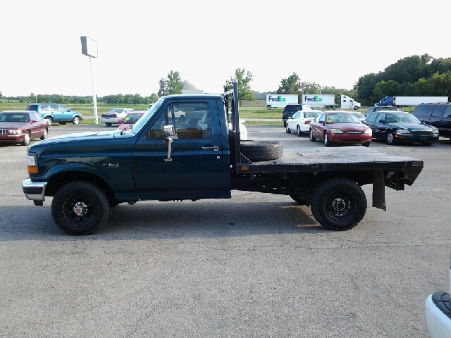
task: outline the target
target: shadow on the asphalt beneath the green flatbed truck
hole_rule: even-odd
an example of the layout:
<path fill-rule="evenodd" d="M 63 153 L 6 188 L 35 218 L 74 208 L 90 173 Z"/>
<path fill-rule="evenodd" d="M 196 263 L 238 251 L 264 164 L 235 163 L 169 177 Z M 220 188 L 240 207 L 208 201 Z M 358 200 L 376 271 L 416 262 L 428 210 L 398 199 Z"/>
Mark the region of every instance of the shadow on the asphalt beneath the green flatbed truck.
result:
<path fill-rule="evenodd" d="M 109 221 L 90 236 L 70 236 L 54 224 L 50 206 L 1 206 L 0 242 L 245 237 L 328 232 L 294 201 L 145 201 L 111 208 Z"/>

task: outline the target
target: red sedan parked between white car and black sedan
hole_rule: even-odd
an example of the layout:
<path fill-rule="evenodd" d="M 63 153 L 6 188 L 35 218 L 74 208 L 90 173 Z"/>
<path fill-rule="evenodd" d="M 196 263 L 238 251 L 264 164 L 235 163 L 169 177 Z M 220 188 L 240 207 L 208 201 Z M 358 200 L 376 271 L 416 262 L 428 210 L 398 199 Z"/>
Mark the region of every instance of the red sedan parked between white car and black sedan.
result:
<path fill-rule="evenodd" d="M 373 138 L 371 128 L 347 111 L 325 111 L 310 123 L 310 141 L 322 139 L 325 146 L 333 143 L 359 143 L 369 146 Z"/>

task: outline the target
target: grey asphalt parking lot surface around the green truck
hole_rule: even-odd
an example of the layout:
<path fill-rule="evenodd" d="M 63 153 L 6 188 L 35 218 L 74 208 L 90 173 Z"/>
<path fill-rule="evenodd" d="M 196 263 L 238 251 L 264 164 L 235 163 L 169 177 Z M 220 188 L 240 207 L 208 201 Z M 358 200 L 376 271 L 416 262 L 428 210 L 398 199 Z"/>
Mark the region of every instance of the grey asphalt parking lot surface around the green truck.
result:
<path fill-rule="evenodd" d="M 49 137 L 93 129 L 114 127 L 52 125 Z M 247 130 L 323 147 L 280 126 Z M 289 196 L 233 192 L 121 204 L 99 232 L 72 237 L 51 199 L 23 196 L 27 147 L 1 145 L 0 336 L 428 337 L 424 301 L 449 288 L 451 141 L 370 147 L 424 170 L 347 232 L 323 230 Z"/>

